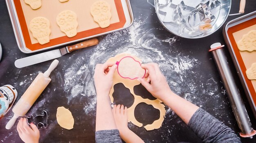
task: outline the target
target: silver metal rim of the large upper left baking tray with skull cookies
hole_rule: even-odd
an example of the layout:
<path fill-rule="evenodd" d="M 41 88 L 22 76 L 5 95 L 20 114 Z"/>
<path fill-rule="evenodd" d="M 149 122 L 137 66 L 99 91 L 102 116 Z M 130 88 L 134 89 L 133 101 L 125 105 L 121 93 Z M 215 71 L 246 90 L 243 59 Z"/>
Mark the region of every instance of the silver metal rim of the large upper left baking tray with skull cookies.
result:
<path fill-rule="evenodd" d="M 118 0 L 115 0 L 115 2 L 116 1 L 118 1 Z M 123 27 L 118 28 L 118 29 L 114 29 L 114 30 L 110 30 L 110 31 L 107 31 L 107 32 L 97 33 L 95 35 L 90 35 L 88 37 L 73 39 L 71 41 L 66 41 L 64 43 L 58 43 L 58 44 L 47 46 L 47 47 L 44 47 L 44 48 L 38 49 L 38 50 L 30 50 L 26 46 L 26 43 L 25 43 L 26 39 L 23 36 L 24 33 L 22 33 L 21 24 L 19 22 L 19 17 L 18 17 L 18 14 L 20 14 L 20 11 L 17 11 L 16 7 L 15 7 L 16 0 L 6 0 L 6 4 L 7 4 L 7 8 L 8 8 L 8 11 L 9 11 L 10 18 L 11 18 L 11 23 L 12 23 L 12 26 L 13 26 L 13 31 L 14 31 L 14 35 L 16 37 L 18 48 L 20 49 L 21 52 L 24 52 L 24 53 L 28 54 L 28 53 L 34 53 L 34 52 L 39 52 L 39 51 L 43 51 L 43 50 L 49 50 L 49 49 L 56 48 L 56 47 L 59 47 L 59 46 L 62 46 L 62 45 L 67 45 L 67 44 L 70 44 L 70 43 L 82 41 L 82 40 L 85 40 L 85 39 L 90 39 L 90 38 L 93 38 L 93 37 L 98 37 L 98 36 L 101 36 L 101 35 L 106 35 L 108 33 L 116 32 L 118 30 L 122 30 L 122 29 L 130 27 L 133 24 L 133 21 L 134 21 L 134 16 L 133 16 L 133 13 L 132 13 L 132 7 L 131 7 L 131 4 L 130 4 L 130 0 L 119 0 L 119 1 L 121 1 L 121 5 L 122 5 L 122 8 L 124 10 L 124 17 L 126 19 L 126 22 L 125 22 Z M 119 13 L 118 13 L 118 15 L 119 15 Z M 50 40 L 49 43 L 51 43 L 51 40 Z M 39 45 L 39 46 L 41 46 L 41 45 Z"/>

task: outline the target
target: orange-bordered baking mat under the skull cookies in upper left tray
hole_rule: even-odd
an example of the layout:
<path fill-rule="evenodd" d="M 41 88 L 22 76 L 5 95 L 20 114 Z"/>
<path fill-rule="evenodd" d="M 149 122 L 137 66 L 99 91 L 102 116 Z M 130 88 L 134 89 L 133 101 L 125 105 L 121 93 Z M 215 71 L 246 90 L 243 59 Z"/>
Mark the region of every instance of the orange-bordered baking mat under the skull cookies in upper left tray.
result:
<path fill-rule="evenodd" d="M 39 50 L 124 27 L 126 17 L 121 0 L 105 0 L 110 4 L 112 14 L 110 26 L 107 28 L 100 28 L 99 24 L 94 22 L 90 14 L 90 6 L 96 1 L 97 0 L 69 0 L 68 2 L 62 3 L 59 2 L 59 0 L 42 0 L 42 6 L 39 9 L 33 10 L 24 0 L 14 0 L 13 2 L 26 47 L 31 51 Z M 61 32 L 56 23 L 57 15 L 65 10 L 74 11 L 77 15 L 77 35 L 71 38 L 67 37 L 64 32 Z M 29 30 L 30 21 L 38 16 L 45 17 L 51 22 L 50 28 L 52 32 L 50 42 L 44 45 L 40 45 Z"/>

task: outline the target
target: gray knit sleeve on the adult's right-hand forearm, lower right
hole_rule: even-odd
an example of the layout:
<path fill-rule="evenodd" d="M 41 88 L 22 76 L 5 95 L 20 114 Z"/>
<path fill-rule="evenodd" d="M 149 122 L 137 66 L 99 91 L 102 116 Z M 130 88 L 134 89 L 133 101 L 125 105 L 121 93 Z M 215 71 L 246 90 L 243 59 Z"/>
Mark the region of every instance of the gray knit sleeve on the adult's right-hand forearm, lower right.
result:
<path fill-rule="evenodd" d="M 188 126 L 204 143 L 241 143 L 231 128 L 202 108 L 194 113 Z"/>

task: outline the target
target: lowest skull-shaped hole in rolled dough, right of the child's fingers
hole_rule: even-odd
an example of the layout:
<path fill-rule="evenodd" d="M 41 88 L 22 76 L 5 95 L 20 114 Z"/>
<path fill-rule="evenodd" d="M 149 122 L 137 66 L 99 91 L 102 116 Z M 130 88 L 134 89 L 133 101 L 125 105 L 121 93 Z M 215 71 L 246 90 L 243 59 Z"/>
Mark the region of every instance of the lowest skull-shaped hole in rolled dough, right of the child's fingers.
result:
<path fill-rule="evenodd" d="M 146 126 L 160 118 L 160 111 L 152 105 L 141 102 L 135 107 L 134 115 L 137 121 Z"/>

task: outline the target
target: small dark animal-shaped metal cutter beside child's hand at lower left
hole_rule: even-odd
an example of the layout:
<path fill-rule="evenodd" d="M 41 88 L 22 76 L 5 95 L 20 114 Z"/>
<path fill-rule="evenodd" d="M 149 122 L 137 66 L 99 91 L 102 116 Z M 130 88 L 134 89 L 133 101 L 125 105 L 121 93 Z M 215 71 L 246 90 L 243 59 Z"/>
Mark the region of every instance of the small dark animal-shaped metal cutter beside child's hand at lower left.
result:
<path fill-rule="evenodd" d="M 34 123 L 37 128 L 41 128 L 42 126 L 44 128 L 47 128 L 48 126 L 48 112 L 47 111 L 43 111 L 42 115 L 36 115 L 34 117 L 34 115 L 31 115 L 30 117 L 27 117 L 27 123 L 30 125 L 31 123 Z"/>

